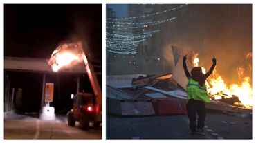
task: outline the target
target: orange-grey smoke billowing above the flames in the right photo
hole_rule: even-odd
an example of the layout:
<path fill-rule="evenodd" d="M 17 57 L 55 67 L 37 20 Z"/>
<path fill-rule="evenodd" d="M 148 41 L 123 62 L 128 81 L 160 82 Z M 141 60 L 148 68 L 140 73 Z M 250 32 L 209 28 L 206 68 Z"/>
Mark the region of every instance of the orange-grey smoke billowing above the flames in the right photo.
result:
<path fill-rule="evenodd" d="M 190 47 L 199 53 L 199 66 L 206 71 L 215 56 L 218 73 L 228 84 L 239 80 L 239 67 L 244 77 L 252 77 L 252 5 L 187 5 L 176 16 L 161 28 L 163 49 Z M 170 57 L 164 50 L 163 56 Z"/>

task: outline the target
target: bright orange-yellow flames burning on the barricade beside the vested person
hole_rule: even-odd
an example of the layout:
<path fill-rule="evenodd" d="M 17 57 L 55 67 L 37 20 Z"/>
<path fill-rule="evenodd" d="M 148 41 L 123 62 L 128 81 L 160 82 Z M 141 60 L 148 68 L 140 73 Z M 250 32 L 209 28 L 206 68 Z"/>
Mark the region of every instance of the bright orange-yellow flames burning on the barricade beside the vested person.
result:
<path fill-rule="evenodd" d="M 194 67 L 199 65 L 199 58 L 197 55 L 194 56 L 193 64 Z M 205 74 L 205 68 L 202 67 L 203 74 Z M 208 80 L 205 82 L 205 85 L 208 90 L 208 94 L 213 96 L 215 99 L 220 99 L 221 96 L 228 96 L 229 98 L 232 95 L 235 95 L 241 101 L 241 104 L 244 107 L 251 108 L 253 106 L 253 89 L 250 85 L 250 78 L 243 77 L 244 68 L 238 68 L 238 76 L 241 82 L 239 84 L 227 85 L 223 78 L 217 73 L 216 67 L 212 72 L 212 78 L 208 77 Z"/>

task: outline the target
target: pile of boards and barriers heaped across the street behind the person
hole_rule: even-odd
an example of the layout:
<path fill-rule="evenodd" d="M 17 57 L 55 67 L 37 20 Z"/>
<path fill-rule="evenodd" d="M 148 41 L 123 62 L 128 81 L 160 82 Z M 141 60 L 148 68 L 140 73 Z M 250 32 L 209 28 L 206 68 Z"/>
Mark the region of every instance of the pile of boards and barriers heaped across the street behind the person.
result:
<path fill-rule="evenodd" d="M 107 76 L 107 113 L 112 115 L 183 115 L 186 114 L 187 101 L 185 76 L 182 55 L 188 57 L 194 53 L 191 50 L 172 47 L 175 67 L 172 73 L 163 75 L 118 75 Z M 191 58 L 192 59 L 192 58 Z M 188 70 L 192 62 L 187 63 Z M 225 102 L 237 102 L 237 98 L 215 100 L 205 108 L 210 111 L 225 113 L 248 112 L 251 110 L 234 107 Z"/>

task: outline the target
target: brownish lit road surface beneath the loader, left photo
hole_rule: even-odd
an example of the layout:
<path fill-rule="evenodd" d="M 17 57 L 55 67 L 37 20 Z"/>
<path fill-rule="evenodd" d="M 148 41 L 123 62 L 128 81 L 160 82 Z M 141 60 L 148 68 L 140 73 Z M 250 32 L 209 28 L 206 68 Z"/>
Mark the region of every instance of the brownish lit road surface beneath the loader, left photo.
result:
<path fill-rule="evenodd" d="M 102 129 L 88 131 L 68 126 L 66 117 L 53 121 L 39 120 L 26 115 L 12 115 L 4 119 L 4 139 L 101 139 Z"/>

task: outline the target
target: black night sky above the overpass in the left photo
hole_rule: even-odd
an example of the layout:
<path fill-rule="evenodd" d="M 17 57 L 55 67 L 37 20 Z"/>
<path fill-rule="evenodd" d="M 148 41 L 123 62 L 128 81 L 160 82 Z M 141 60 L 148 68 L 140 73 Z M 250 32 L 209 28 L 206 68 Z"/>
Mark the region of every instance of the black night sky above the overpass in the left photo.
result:
<path fill-rule="evenodd" d="M 102 5 L 4 5 L 4 56 L 49 58 L 59 43 L 81 39 L 102 59 Z"/>

